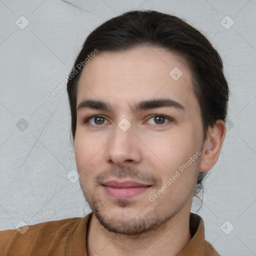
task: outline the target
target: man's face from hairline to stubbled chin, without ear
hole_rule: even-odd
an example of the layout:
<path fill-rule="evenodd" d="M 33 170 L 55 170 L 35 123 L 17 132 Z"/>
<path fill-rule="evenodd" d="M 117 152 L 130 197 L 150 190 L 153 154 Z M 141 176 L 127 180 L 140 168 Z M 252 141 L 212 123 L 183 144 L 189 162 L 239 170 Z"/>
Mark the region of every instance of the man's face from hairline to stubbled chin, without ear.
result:
<path fill-rule="evenodd" d="M 84 100 L 110 108 L 84 103 L 74 139 L 81 189 L 99 222 L 139 234 L 189 212 L 203 131 L 180 55 L 149 46 L 99 52 L 81 73 L 77 106 Z"/>

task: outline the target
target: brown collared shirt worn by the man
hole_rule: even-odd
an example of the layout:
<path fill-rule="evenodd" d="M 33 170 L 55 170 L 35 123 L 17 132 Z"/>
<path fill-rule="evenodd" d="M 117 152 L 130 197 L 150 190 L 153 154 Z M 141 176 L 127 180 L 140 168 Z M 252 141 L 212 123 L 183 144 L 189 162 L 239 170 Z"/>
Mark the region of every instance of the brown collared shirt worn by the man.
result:
<path fill-rule="evenodd" d="M 0 231 L 1 256 L 87 256 L 86 235 L 92 212 L 74 217 L 29 225 L 21 234 L 17 229 Z M 24 228 L 24 227 L 23 227 Z M 191 240 L 177 256 L 219 256 L 204 239 L 201 217 L 190 212 Z"/>

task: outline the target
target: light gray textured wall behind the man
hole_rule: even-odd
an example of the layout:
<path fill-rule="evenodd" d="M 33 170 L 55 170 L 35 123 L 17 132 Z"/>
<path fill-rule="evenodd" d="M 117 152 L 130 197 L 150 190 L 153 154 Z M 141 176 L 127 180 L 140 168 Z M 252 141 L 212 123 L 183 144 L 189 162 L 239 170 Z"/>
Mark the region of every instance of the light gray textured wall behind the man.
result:
<path fill-rule="evenodd" d="M 0 229 L 90 211 L 79 182 L 67 178 L 76 166 L 66 86 L 51 100 L 46 95 L 66 77 L 98 24 L 127 10 L 154 9 L 184 18 L 222 57 L 231 90 L 228 131 L 197 213 L 221 255 L 256 255 L 256 1 L 70 2 L 0 0 Z M 29 21 L 24 29 L 15 23 L 25 24 L 22 15 Z M 227 15 L 234 22 L 228 29 L 222 25 L 231 24 Z M 21 118 L 28 123 L 23 131 L 16 125 Z M 226 220 L 225 230 L 234 226 L 229 234 L 221 230 Z"/>

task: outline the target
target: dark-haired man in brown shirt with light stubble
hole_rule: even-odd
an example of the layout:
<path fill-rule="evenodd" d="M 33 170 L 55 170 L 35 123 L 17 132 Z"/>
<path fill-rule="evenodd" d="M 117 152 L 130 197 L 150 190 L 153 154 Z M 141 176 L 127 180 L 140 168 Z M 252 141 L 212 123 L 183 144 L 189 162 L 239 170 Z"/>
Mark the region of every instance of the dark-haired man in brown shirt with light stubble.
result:
<path fill-rule="evenodd" d="M 222 69 L 209 41 L 172 15 L 130 11 L 92 31 L 67 82 L 92 212 L 1 231 L 1 255 L 219 255 L 190 209 L 225 136 Z"/>

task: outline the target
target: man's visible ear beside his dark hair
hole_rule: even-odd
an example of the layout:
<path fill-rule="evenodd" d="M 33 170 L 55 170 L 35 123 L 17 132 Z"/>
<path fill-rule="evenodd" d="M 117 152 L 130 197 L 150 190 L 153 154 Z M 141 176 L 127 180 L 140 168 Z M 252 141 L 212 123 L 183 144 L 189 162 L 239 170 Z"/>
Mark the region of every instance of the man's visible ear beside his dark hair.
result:
<path fill-rule="evenodd" d="M 207 138 L 203 144 L 200 171 L 208 171 L 216 163 L 225 134 L 226 127 L 223 120 L 217 120 L 213 127 L 208 128 Z"/>

